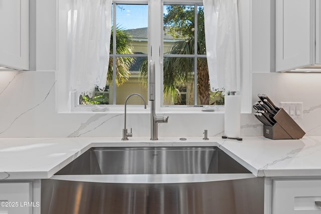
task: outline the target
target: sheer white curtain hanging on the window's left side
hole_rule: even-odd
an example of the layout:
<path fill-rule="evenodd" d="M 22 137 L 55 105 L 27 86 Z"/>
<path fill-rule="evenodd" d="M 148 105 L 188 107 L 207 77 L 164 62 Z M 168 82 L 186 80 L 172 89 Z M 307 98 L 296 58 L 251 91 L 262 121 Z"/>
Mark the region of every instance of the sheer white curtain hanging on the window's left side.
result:
<path fill-rule="evenodd" d="M 109 62 L 111 0 L 73 0 L 70 13 L 70 86 L 92 96 L 104 90 Z"/>

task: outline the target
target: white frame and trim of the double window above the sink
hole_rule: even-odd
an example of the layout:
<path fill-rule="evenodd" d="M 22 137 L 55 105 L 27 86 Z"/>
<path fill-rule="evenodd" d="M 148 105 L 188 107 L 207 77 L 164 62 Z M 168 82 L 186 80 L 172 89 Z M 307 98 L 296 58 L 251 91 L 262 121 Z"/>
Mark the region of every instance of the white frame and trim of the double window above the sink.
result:
<path fill-rule="evenodd" d="M 86 112 L 92 111 L 92 106 L 75 107 L 75 95 L 69 91 L 69 64 L 68 55 L 68 29 L 66 29 L 68 8 L 72 0 L 57 1 L 57 87 L 56 87 L 56 110 L 61 113 Z M 202 112 L 201 107 L 171 106 L 162 107 L 163 103 L 163 6 L 168 4 L 186 4 L 202 5 L 202 0 L 115 0 L 115 4 L 148 4 L 148 61 L 155 61 L 155 107 L 157 112 L 161 113 L 208 113 Z M 241 112 L 251 113 L 252 105 L 252 73 L 251 73 L 251 0 L 240 0 L 239 18 L 240 23 L 240 44 L 241 44 Z M 242 13 L 243 11 L 243 13 Z M 159 16 L 150 16 L 150 14 L 159 14 Z M 159 25 L 157 25 L 159 23 Z M 147 103 L 149 103 L 146 100 Z M 108 111 L 103 113 L 122 113 L 123 105 L 107 105 Z M 129 105 L 133 112 L 146 113 L 140 105 Z M 149 108 L 149 106 L 148 106 Z M 93 112 L 97 113 L 97 112 Z M 215 113 L 224 113 L 224 107 L 219 107 Z"/>

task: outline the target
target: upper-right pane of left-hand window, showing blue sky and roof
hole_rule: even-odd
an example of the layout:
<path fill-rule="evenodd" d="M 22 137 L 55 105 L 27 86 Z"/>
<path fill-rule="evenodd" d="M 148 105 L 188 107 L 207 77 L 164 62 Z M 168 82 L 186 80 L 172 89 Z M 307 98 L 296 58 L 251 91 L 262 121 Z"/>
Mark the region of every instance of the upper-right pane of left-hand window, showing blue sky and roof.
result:
<path fill-rule="evenodd" d="M 116 5 L 116 53 L 147 54 L 147 5 Z"/>

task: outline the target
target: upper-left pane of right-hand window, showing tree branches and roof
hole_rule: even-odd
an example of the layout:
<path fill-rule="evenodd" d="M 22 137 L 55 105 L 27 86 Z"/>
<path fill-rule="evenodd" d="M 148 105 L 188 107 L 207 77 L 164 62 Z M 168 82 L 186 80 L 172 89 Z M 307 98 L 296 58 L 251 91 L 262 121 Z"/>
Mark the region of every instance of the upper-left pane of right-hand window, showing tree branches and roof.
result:
<path fill-rule="evenodd" d="M 194 54 L 195 7 L 164 5 L 164 54 Z"/>

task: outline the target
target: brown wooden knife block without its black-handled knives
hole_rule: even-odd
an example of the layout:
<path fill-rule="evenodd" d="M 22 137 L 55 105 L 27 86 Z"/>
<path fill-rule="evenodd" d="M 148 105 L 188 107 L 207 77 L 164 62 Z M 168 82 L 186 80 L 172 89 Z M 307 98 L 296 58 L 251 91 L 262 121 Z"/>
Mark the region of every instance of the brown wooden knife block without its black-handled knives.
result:
<path fill-rule="evenodd" d="M 300 139 L 305 132 L 297 125 L 297 123 L 288 115 L 284 109 L 274 115 L 273 119 L 276 123 L 273 126 L 263 126 L 263 136 L 273 140 L 279 139 Z"/>

